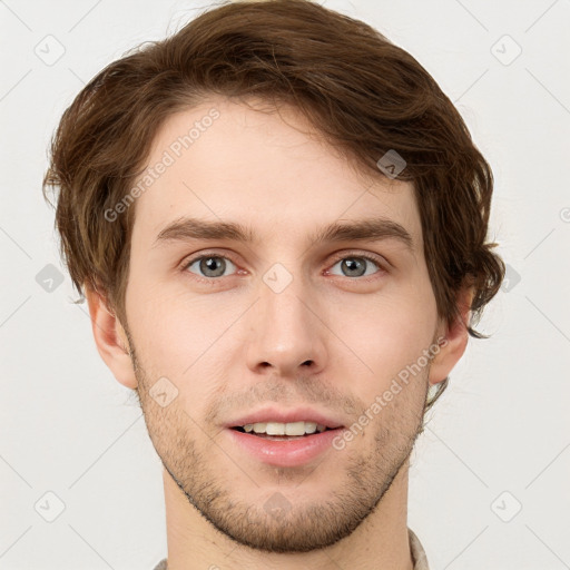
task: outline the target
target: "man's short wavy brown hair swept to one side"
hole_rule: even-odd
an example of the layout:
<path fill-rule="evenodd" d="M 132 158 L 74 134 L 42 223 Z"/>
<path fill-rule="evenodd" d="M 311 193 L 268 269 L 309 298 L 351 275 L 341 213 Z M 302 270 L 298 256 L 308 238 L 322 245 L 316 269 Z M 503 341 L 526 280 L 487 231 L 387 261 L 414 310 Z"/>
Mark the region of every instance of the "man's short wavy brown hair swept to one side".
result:
<path fill-rule="evenodd" d="M 504 264 L 485 243 L 493 176 L 460 114 L 428 71 L 366 23 L 309 0 L 223 3 L 163 41 L 114 61 L 79 92 L 51 142 L 43 179 L 59 189 L 56 227 L 76 289 L 99 291 L 126 324 L 135 207 L 110 223 L 144 170 L 158 128 L 220 95 L 289 104 L 362 171 L 387 151 L 406 166 L 439 316 L 459 316 L 470 285 L 472 328 Z M 436 400 L 448 383 L 439 385 Z"/>

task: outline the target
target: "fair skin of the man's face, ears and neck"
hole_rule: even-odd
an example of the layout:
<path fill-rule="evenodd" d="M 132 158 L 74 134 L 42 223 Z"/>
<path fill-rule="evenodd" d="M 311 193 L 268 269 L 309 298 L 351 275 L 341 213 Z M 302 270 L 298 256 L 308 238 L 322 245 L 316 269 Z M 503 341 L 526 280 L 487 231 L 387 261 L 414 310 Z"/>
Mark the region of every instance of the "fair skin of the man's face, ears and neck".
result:
<path fill-rule="evenodd" d="M 138 391 L 165 466 L 168 568 L 411 570 L 409 455 L 429 385 L 465 350 L 472 293 L 458 296 L 461 321 L 438 318 L 412 185 L 361 176 L 292 108 L 204 101 L 169 117 L 148 165 L 213 107 L 220 117 L 136 200 L 127 323 L 87 293 L 98 351 Z M 247 224 L 259 239 L 154 245 L 184 215 Z M 371 216 L 406 228 L 413 250 L 394 238 L 309 240 L 328 223 Z M 185 267 L 199 254 L 223 256 L 223 275 Z M 366 275 L 347 273 L 347 258 Z M 263 281 L 275 263 L 292 276 L 281 293 Z M 350 426 L 442 336 L 343 450 L 277 468 L 236 449 L 223 429 L 268 402 L 311 405 Z M 164 407 L 149 392 L 160 377 L 178 391 Z M 288 505 L 281 517 L 266 510 L 272 497 Z"/>

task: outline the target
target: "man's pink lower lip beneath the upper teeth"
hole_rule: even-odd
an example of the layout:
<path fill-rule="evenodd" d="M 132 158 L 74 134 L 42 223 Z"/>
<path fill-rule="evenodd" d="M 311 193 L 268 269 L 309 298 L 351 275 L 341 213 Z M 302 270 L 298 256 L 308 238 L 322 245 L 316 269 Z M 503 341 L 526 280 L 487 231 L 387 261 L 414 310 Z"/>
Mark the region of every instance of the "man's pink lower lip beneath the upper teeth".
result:
<path fill-rule="evenodd" d="M 266 440 L 250 433 L 227 429 L 229 436 L 254 458 L 279 468 L 304 465 L 332 448 L 342 428 L 305 435 L 298 440 Z"/>

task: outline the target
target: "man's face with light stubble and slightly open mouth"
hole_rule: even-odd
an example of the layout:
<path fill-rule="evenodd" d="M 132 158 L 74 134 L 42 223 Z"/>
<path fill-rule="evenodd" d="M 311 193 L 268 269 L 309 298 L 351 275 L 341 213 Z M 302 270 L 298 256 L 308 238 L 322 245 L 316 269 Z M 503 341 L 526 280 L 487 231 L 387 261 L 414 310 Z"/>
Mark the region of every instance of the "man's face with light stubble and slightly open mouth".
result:
<path fill-rule="evenodd" d="M 224 99 L 170 117 L 148 165 L 174 159 L 136 200 L 126 294 L 166 470 L 219 531 L 273 552 L 333 544 L 373 512 L 419 433 L 439 334 L 412 186 L 360 176 L 307 129 L 293 109 Z M 335 224 L 354 230 L 325 235 Z M 267 416 L 341 428 L 232 429 Z"/>

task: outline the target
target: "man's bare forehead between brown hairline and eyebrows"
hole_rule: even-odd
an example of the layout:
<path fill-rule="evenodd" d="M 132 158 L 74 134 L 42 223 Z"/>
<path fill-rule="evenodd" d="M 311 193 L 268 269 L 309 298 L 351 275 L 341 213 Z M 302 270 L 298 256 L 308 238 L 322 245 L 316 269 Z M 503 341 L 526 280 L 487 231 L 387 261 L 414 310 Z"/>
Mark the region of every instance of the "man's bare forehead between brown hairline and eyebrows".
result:
<path fill-rule="evenodd" d="M 135 184 L 134 236 L 148 247 L 185 216 L 236 222 L 263 239 L 380 216 L 421 243 L 413 186 L 358 175 L 291 107 L 267 114 L 219 98 L 177 112 Z"/>

